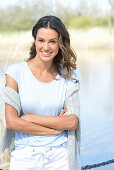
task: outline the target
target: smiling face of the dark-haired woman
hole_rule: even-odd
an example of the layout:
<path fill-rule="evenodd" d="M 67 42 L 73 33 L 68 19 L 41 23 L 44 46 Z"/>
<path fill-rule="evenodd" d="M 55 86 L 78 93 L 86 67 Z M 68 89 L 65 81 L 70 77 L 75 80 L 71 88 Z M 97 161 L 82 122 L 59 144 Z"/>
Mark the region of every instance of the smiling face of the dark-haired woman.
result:
<path fill-rule="evenodd" d="M 51 28 L 40 28 L 36 36 L 36 57 L 43 62 L 53 61 L 59 50 L 59 35 Z"/>

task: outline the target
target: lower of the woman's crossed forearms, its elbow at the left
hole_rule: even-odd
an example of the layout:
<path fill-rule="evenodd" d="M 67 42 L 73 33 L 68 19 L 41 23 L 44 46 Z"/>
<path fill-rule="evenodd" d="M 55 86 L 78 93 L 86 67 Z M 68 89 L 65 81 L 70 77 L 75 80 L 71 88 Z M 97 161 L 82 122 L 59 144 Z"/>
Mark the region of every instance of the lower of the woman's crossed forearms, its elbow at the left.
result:
<path fill-rule="evenodd" d="M 5 104 L 5 117 L 8 129 L 33 135 L 55 135 L 61 133 L 61 131 L 28 122 L 21 119 L 21 117 L 19 118 L 17 115 L 17 111 L 8 104 Z"/>

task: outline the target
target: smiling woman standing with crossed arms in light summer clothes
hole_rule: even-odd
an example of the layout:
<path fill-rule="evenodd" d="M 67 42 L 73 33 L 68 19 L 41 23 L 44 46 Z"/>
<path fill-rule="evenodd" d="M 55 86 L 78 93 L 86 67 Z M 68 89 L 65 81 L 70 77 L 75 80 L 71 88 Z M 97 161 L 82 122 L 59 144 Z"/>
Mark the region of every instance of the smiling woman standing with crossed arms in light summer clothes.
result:
<path fill-rule="evenodd" d="M 7 129 L 15 131 L 9 169 L 80 170 L 79 88 L 69 33 L 59 18 L 45 16 L 32 35 L 30 58 L 6 70 L 6 87 L 21 105 L 18 116 L 5 104 Z"/>

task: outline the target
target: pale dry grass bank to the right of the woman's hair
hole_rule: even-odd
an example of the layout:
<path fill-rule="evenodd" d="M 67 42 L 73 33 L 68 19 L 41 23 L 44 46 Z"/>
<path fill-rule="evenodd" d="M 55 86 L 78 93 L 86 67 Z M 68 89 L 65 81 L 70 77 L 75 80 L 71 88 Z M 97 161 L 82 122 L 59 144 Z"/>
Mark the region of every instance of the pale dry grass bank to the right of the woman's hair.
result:
<path fill-rule="evenodd" d="M 77 49 L 113 50 L 114 29 L 92 28 L 89 30 L 70 30 L 71 42 Z"/>

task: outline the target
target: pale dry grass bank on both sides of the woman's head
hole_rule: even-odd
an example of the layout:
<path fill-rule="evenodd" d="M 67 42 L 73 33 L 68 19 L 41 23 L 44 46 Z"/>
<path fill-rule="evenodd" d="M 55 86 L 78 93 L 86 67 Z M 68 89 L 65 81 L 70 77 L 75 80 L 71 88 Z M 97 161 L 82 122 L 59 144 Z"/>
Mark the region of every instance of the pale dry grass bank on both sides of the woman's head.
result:
<path fill-rule="evenodd" d="M 69 32 L 71 44 L 75 50 L 113 50 L 114 48 L 114 29 L 111 34 L 106 28 L 70 30 Z M 0 34 L 0 62 L 17 62 L 27 59 L 32 42 L 31 31 Z"/>

